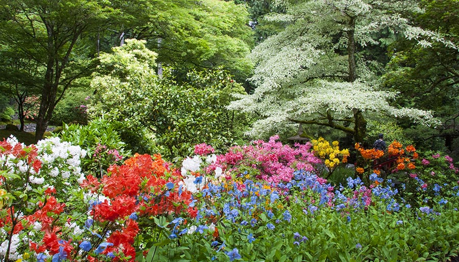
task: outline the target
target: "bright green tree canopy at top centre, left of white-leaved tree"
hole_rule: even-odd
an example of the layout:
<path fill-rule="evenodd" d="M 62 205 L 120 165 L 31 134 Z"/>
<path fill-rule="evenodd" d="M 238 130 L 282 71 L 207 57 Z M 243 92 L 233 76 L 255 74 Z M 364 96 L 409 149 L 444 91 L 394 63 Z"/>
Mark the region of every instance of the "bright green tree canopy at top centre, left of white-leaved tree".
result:
<path fill-rule="evenodd" d="M 149 9 L 139 10 L 132 30 L 137 39 L 156 51 L 157 62 L 173 67 L 175 75 L 186 78 L 190 70 L 225 66 L 244 81 L 252 65 L 246 55 L 253 46 L 249 14 L 244 5 L 220 0 L 156 0 Z"/>

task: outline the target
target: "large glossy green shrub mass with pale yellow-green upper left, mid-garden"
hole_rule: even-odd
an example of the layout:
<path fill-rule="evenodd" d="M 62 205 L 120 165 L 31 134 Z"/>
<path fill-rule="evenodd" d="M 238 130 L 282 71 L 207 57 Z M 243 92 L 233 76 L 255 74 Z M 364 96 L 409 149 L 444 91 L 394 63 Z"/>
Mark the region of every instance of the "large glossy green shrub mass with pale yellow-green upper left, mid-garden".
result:
<path fill-rule="evenodd" d="M 234 143 L 247 120 L 225 107 L 234 100 L 231 93 L 244 92 L 242 86 L 220 69 L 190 72 L 189 83 L 179 85 L 169 70 L 158 77 L 155 59 L 145 41 L 135 39 L 113 48 L 112 54 L 102 54 L 91 83 L 97 93 L 88 107 L 90 116 L 122 122 L 124 133 L 137 137 L 131 146 L 140 144 L 139 137 L 148 137 L 167 157 L 187 155 L 202 142 Z"/>

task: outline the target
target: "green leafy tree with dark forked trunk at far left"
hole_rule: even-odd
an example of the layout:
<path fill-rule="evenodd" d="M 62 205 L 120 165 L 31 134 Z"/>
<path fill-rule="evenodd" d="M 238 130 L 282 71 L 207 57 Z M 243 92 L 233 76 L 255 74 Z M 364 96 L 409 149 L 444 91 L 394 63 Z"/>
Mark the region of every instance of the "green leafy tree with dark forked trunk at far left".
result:
<path fill-rule="evenodd" d="M 76 52 L 88 44 L 83 37 L 116 21 L 121 14 L 118 7 L 105 0 L 0 1 L 2 49 L 40 66 L 37 141 L 65 91 L 75 79 L 88 74 L 87 54 Z"/>

